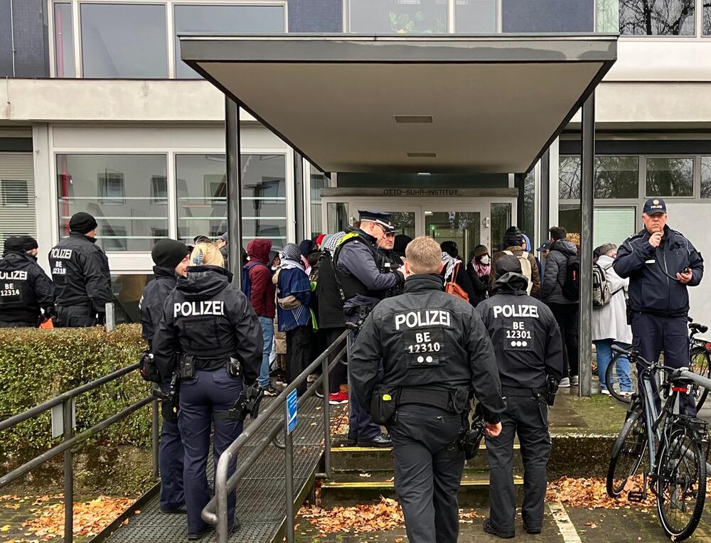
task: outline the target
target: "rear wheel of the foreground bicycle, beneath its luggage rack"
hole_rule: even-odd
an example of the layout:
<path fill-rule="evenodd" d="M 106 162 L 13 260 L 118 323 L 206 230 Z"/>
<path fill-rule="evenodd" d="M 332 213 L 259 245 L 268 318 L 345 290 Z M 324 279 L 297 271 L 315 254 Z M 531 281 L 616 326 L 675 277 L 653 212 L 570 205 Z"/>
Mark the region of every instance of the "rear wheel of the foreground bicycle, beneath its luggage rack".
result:
<path fill-rule="evenodd" d="M 673 431 L 657 464 L 657 511 L 673 541 L 694 533 L 706 500 L 706 462 L 701 443 L 684 429 Z"/>

